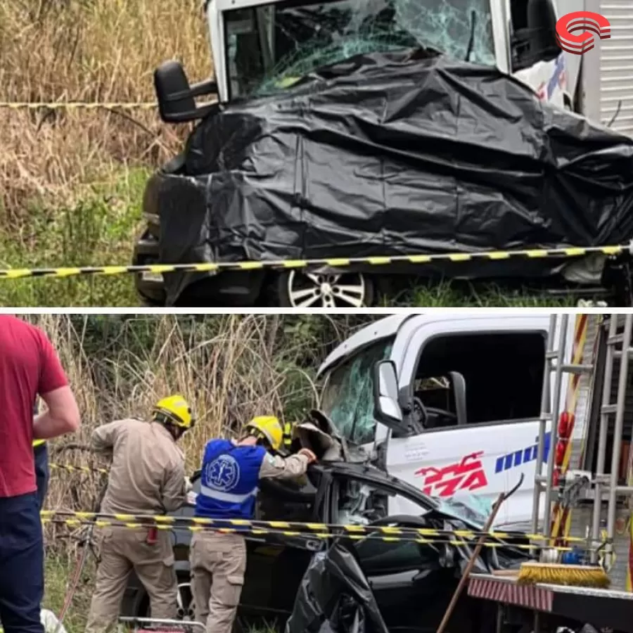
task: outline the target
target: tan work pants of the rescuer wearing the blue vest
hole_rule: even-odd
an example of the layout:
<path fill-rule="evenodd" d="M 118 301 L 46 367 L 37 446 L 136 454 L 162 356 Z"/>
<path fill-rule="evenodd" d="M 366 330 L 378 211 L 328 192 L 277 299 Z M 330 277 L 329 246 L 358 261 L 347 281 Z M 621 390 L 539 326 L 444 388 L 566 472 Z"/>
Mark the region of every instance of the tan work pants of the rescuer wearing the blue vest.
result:
<path fill-rule="evenodd" d="M 191 594 L 206 633 L 231 633 L 246 572 L 243 536 L 198 532 L 191 539 Z"/>

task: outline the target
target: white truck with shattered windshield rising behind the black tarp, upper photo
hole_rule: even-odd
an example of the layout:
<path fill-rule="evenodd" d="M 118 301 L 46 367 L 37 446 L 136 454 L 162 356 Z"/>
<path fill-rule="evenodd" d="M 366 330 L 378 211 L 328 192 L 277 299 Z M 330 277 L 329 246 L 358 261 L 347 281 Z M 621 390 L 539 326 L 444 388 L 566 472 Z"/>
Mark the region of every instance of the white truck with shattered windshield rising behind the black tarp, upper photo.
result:
<path fill-rule="evenodd" d="M 588 54 L 563 53 L 556 22 L 582 10 L 601 13 L 613 34 Z M 157 68 L 165 122 L 281 91 L 359 53 L 429 46 L 494 65 L 543 101 L 633 134 L 629 0 L 205 0 L 204 11 L 215 78 L 190 86 L 179 62 Z M 196 106 L 203 95 L 217 101 Z"/>

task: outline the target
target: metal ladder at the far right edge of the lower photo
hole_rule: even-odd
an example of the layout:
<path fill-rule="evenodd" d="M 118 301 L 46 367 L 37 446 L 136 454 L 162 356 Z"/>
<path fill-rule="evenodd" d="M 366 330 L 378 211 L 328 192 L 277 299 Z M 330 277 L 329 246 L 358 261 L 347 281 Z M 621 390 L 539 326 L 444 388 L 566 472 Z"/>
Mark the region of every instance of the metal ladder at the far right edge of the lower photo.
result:
<path fill-rule="evenodd" d="M 633 354 L 631 339 L 633 334 L 633 314 L 624 315 L 624 331 L 618 334 L 620 316 L 611 314 L 607 337 L 606 360 L 604 369 L 604 381 L 602 388 L 602 402 L 600 407 L 600 426 L 598 437 L 598 450 L 596 455 L 596 473 L 592 477 L 594 492 L 594 507 L 592 513 L 592 543 L 599 542 L 601 523 L 601 509 L 603 494 L 606 492 L 607 501 L 607 542 L 605 548 L 605 561 L 607 565 L 613 561 L 613 538 L 615 536 L 615 513 L 617 510 L 618 494 L 633 494 L 631 485 L 618 485 L 618 471 L 620 464 L 620 450 L 622 448 L 622 430 L 624 426 L 624 414 L 629 378 L 629 358 Z M 620 349 L 618 349 L 620 346 Z M 611 384 L 613 382 L 613 367 L 615 359 L 620 358 L 620 371 L 618 375 L 618 395 L 615 403 L 610 402 Z M 606 445 L 608 426 L 611 416 L 615 416 L 613 428 L 613 449 L 611 452 L 610 473 L 605 474 Z M 629 451 L 627 473 L 632 471 L 633 451 Z M 592 563 L 597 562 L 597 552 L 592 551 Z"/>

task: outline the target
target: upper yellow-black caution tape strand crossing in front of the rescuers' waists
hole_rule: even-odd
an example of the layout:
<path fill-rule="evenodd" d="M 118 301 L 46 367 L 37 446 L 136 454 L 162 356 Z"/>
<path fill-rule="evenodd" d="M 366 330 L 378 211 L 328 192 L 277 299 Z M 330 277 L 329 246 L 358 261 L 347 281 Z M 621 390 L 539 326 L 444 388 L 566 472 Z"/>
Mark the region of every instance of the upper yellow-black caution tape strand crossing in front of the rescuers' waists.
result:
<path fill-rule="evenodd" d="M 64 511 L 64 510 L 44 510 L 41 511 L 41 517 L 44 519 L 52 519 L 58 517 L 74 517 L 80 520 L 106 520 L 115 521 L 118 523 L 124 523 L 128 525 L 134 525 L 136 527 L 143 526 L 164 526 L 165 529 L 174 528 L 212 528 L 214 530 L 219 529 L 234 529 L 234 528 L 248 528 L 251 530 L 292 530 L 293 534 L 321 534 L 338 535 L 341 532 L 352 535 L 360 535 L 364 537 L 366 535 L 390 535 L 395 537 L 402 536 L 415 536 L 415 537 L 447 537 L 455 536 L 462 539 L 477 539 L 480 536 L 497 538 L 502 540 L 516 539 L 517 537 L 523 537 L 532 541 L 548 540 L 544 535 L 539 534 L 523 534 L 517 532 L 478 532 L 476 530 L 437 530 L 435 528 L 395 528 L 388 525 L 336 525 L 333 523 L 300 523 L 295 521 L 261 521 L 261 520 L 247 520 L 247 519 L 211 519 L 201 518 L 195 516 L 165 516 L 165 515 L 153 515 L 153 514 L 106 514 L 98 512 L 87 511 Z M 240 530 L 241 531 L 241 530 Z M 587 539 L 580 537 L 570 537 L 567 539 L 570 542 L 583 542 L 586 543 Z M 534 545 L 532 545 L 533 547 Z"/>

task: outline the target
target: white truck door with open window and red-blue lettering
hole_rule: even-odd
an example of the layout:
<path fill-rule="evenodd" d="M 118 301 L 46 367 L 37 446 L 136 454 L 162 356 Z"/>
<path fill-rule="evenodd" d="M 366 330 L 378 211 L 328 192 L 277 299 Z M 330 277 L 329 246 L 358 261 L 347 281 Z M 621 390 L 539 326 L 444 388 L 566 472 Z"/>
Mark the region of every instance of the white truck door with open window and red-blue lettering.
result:
<path fill-rule="evenodd" d="M 388 473 L 452 503 L 476 495 L 484 507 L 523 473 L 497 523 L 529 522 L 548 324 L 485 317 L 420 328 L 398 396 L 403 428 L 416 431 L 392 431 Z"/>

